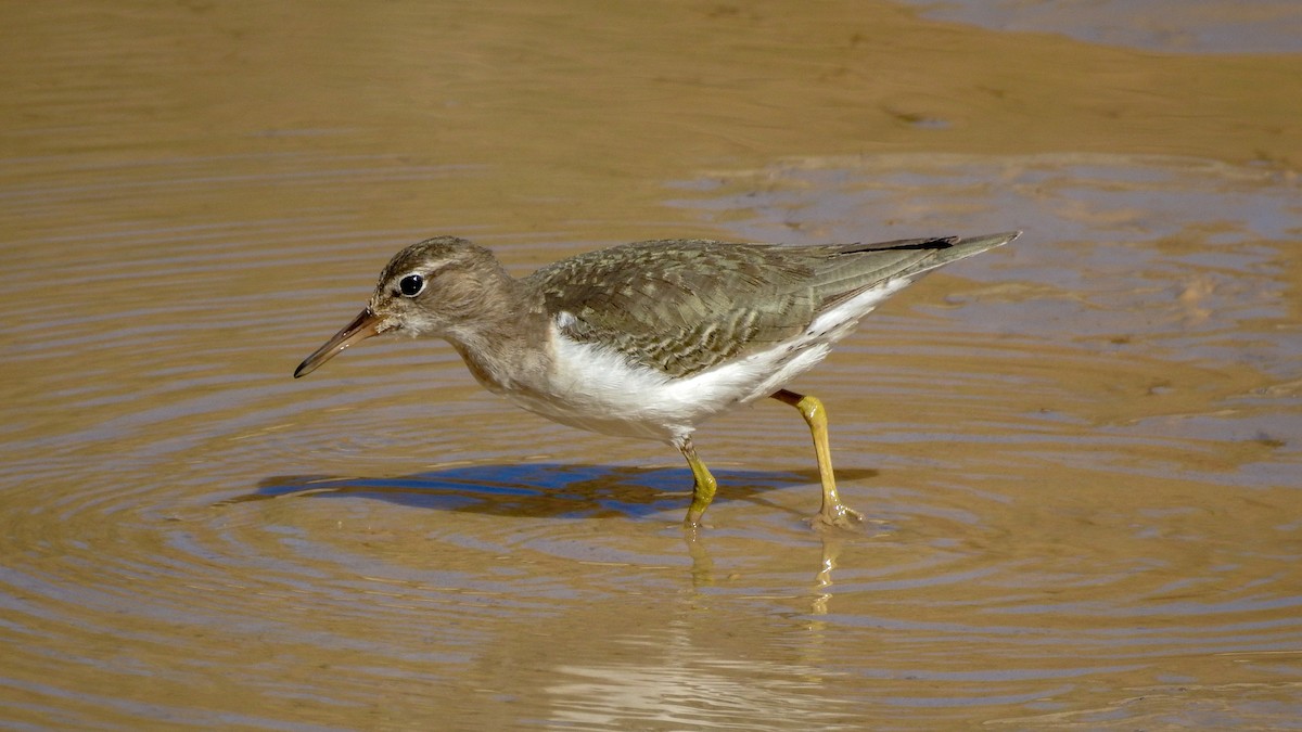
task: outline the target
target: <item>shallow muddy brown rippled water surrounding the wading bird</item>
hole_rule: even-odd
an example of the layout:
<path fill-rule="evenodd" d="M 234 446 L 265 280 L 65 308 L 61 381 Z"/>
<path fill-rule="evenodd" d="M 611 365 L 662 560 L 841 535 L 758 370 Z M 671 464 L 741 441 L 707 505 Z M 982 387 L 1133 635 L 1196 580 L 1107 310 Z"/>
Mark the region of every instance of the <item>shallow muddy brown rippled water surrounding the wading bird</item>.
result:
<path fill-rule="evenodd" d="M 0 722 L 1295 724 L 1302 55 L 1197 5 L 5 7 Z M 858 535 L 776 402 L 691 541 L 443 344 L 289 376 L 432 233 L 1008 228 L 798 384 Z"/>

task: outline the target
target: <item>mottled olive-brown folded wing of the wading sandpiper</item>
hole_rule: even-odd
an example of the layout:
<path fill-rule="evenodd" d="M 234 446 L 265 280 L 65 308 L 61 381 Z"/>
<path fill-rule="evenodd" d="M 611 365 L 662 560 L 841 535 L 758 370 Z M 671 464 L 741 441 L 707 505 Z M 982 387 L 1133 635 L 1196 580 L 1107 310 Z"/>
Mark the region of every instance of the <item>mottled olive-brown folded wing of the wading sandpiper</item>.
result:
<path fill-rule="evenodd" d="M 579 254 L 530 276 L 565 335 L 682 376 L 790 337 L 819 313 L 885 280 L 1016 234 L 775 246 L 663 240 Z"/>

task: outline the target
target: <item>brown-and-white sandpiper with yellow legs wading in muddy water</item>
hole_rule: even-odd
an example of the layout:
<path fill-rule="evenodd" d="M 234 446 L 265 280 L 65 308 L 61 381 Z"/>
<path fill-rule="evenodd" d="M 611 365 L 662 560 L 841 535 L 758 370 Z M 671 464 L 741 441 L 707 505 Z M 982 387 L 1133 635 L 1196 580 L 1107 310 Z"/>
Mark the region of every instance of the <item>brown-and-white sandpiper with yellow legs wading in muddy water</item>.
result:
<path fill-rule="evenodd" d="M 397 253 L 366 309 L 294 376 L 379 333 L 445 339 L 480 384 L 530 412 L 678 448 L 694 478 L 687 528 L 699 526 L 716 488 L 693 431 L 772 397 L 797 408 L 814 435 L 823 483 L 815 524 L 852 528 L 862 514 L 837 494 L 823 404 L 785 384 L 924 272 L 1019 234 L 819 246 L 642 241 L 525 279 L 487 249 L 441 236 Z"/>

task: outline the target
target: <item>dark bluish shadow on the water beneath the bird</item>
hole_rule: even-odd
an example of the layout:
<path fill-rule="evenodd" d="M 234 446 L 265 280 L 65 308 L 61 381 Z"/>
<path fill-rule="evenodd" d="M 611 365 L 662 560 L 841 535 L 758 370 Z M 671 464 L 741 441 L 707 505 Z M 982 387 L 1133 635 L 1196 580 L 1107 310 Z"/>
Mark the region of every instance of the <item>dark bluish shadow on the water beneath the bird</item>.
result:
<path fill-rule="evenodd" d="M 858 481 L 876 470 L 838 470 L 837 478 Z M 788 486 L 818 491 L 818 472 L 716 470 L 715 503 L 753 500 Z M 273 475 L 254 492 L 217 505 L 284 496 L 370 498 L 413 508 L 458 511 L 491 516 L 644 518 L 686 511 L 691 472 L 686 468 L 626 468 L 535 462 L 523 465 L 466 465 L 400 477 Z M 773 507 L 779 508 L 779 507 Z"/>

